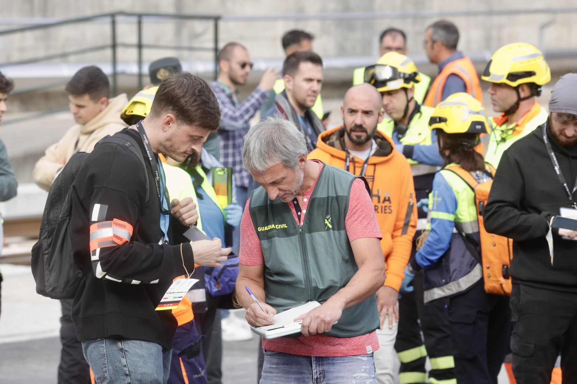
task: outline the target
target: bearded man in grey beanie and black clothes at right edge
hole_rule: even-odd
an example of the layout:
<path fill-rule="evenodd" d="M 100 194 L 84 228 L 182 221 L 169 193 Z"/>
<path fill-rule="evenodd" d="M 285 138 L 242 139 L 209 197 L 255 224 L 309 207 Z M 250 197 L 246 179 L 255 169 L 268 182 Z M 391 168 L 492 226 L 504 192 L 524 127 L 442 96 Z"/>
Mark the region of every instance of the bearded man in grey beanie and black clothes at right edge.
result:
<path fill-rule="evenodd" d="M 577 383 L 577 74 L 560 78 L 546 123 L 504 153 L 484 212 L 489 233 L 514 240 L 510 275 L 513 372 L 548 384 L 561 353 L 563 384 Z"/>

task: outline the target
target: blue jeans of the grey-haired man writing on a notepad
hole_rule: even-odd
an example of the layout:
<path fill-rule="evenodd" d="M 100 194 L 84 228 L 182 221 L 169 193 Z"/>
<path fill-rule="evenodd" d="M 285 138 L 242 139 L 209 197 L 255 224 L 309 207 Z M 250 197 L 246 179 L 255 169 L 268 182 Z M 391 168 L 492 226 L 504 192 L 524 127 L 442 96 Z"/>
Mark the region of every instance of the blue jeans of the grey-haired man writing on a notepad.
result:
<path fill-rule="evenodd" d="M 376 384 L 373 355 L 316 357 L 264 349 L 260 384 Z"/>

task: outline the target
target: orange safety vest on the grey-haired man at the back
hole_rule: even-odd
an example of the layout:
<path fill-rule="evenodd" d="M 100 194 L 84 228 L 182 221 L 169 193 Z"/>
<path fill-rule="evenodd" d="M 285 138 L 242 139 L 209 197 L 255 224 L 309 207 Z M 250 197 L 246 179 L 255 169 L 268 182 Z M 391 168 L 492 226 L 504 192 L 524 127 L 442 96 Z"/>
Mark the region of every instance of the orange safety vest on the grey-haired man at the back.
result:
<path fill-rule="evenodd" d="M 481 89 L 481 82 L 479 82 L 479 77 L 477 76 L 477 70 L 470 58 L 463 57 L 448 63 L 434 79 L 423 103 L 425 106 L 434 108 L 441 102 L 445 82 L 451 74 L 456 74 L 462 78 L 467 87 L 467 93 L 483 103 L 483 91 Z"/>

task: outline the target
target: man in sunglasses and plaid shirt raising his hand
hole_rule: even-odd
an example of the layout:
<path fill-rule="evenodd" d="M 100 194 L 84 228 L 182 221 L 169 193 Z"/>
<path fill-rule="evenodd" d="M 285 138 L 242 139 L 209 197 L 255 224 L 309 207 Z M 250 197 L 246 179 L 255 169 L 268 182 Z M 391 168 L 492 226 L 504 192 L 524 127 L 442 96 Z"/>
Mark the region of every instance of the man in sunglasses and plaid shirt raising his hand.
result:
<path fill-rule="evenodd" d="M 242 143 L 249 129 L 249 121 L 267 101 L 279 72 L 269 68 L 260 83 L 241 102 L 237 87 L 246 83 L 253 63 L 249 53 L 239 43 L 228 43 L 218 55 L 220 73 L 218 80 L 211 83 L 212 91 L 220 105 L 220 162 L 232 167 L 237 184 L 237 202 L 244 207 L 248 198 L 252 176 L 242 166 Z"/>

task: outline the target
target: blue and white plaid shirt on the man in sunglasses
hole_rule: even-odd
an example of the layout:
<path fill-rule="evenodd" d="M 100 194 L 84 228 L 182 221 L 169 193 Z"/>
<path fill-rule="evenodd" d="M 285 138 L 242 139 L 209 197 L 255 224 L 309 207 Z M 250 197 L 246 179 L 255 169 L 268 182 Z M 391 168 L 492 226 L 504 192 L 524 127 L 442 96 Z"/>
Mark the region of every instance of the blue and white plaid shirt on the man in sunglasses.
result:
<path fill-rule="evenodd" d="M 211 82 L 212 91 L 220 106 L 220 162 L 224 167 L 232 167 L 234 180 L 239 187 L 248 187 L 252 177 L 242 165 L 242 144 L 249 121 L 267 101 L 269 92 L 257 86 L 249 97 L 238 104 L 233 92 L 222 81 Z M 237 100 L 241 94 L 236 92 Z"/>

